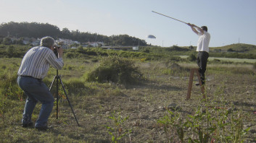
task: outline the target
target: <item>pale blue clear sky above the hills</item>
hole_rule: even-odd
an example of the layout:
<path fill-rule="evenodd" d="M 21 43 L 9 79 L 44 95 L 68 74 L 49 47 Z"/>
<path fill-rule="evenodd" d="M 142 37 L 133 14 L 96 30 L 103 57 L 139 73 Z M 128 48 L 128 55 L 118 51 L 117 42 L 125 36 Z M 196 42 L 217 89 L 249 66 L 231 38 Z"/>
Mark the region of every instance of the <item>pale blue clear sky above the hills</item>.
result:
<path fill-rule="evenodd" d="M 127 34 L 152 45 L 197 45 L 188 25 L 152 11 L 207 25 L 210 47 L 256 45 L 256 0 L 0 0 L 0 23 L 48 22 L 60 30 Z"/>

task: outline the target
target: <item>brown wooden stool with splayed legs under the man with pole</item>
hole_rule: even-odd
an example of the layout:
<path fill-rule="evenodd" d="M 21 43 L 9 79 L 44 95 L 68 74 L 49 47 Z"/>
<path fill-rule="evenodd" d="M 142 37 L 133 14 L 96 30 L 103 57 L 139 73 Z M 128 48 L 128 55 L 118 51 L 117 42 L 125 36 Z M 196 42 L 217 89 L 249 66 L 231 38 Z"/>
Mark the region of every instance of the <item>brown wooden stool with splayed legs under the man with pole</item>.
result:
<path fill-rule="evenodd" d="M 191 96 L 191 90 L 192 90 L 192 84 L 193 84 L 193 78 L 194 78 L 194 72 L 195 72 L 195 71 L 196 71 L 196 73 L 197 73 L 197 77 L 198 77 L 199 84 L 200 84 L 200 87 L 201 87 L 202 96 L 205 98 L 205 86 L 202 85 L 202 82 L 201 82 L 201 78 L 200 78 L 200 74 L 199 74 L 198 69 L 190 69 L 189 88 L 188 88 L 188 93 L 186 94 L 186 100 L 189 100 L 189 99 L 190 99 L 190 96 Z"/>

